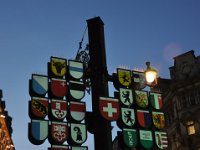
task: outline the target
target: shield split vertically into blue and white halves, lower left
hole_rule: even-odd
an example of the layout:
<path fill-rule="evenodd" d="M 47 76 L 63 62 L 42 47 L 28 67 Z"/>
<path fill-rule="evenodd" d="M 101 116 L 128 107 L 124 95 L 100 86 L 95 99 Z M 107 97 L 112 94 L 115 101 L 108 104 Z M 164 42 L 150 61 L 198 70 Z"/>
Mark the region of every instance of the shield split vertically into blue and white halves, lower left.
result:
<path fill-rule="evenodd" d="M 28 129 L 29 141 L 35 145 L 44 143 L 48 137 L 48 121 L 47 120 L 31 120 Z"/>

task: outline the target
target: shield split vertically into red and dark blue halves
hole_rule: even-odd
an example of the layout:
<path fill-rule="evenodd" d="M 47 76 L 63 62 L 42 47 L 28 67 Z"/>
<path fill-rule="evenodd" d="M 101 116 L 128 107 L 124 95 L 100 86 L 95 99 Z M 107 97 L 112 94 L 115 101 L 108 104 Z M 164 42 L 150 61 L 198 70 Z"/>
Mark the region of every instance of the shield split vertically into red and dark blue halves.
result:
<path fill-rule="evenodd" d="M 137 110 L 137 120 L 139 125 L 144 128 L 151 126 L 151 115 L 148 110 Z"/>

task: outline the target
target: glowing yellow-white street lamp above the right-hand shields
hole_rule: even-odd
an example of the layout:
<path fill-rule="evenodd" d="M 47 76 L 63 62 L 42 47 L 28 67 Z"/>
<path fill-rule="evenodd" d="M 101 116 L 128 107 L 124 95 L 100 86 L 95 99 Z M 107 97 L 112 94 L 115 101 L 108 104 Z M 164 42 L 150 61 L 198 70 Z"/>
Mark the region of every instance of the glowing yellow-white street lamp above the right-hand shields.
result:
<path fill-rule="evenodd" d="M 150 62 L 146 62 L 147 69 L 145 70 L 145 79 L 146 79 L 146 84 L 148 86 L 154 86 L 157 84 L 157 70 L 154 68 L 150 67 Z"/>

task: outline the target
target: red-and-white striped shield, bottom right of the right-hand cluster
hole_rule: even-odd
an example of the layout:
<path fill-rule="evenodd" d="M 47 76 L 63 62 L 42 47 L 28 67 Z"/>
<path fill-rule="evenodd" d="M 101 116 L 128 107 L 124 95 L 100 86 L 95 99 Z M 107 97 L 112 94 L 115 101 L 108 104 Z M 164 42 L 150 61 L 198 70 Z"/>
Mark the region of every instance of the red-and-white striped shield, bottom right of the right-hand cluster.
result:
<path fill-rule="evenodd" d="M 155 139 L 156 139 L 156 145 L 160 149 L 166 149 L 168 147 L 168 140 L 167 140 L 166 132 L 155 131 Z"/>

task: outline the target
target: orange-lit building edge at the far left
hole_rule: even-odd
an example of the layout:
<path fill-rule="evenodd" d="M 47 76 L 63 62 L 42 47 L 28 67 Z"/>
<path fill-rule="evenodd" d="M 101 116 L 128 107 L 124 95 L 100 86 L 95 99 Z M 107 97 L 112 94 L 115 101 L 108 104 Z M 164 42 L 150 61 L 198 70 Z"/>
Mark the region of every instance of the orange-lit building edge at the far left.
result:
<path fill-rule="evenodd" d="M 12 118 L 5 110 L 6 104 L 2 100 L 2 90 L 0 90 L 0 150 L 15 150 L 12 142 Z"/>

